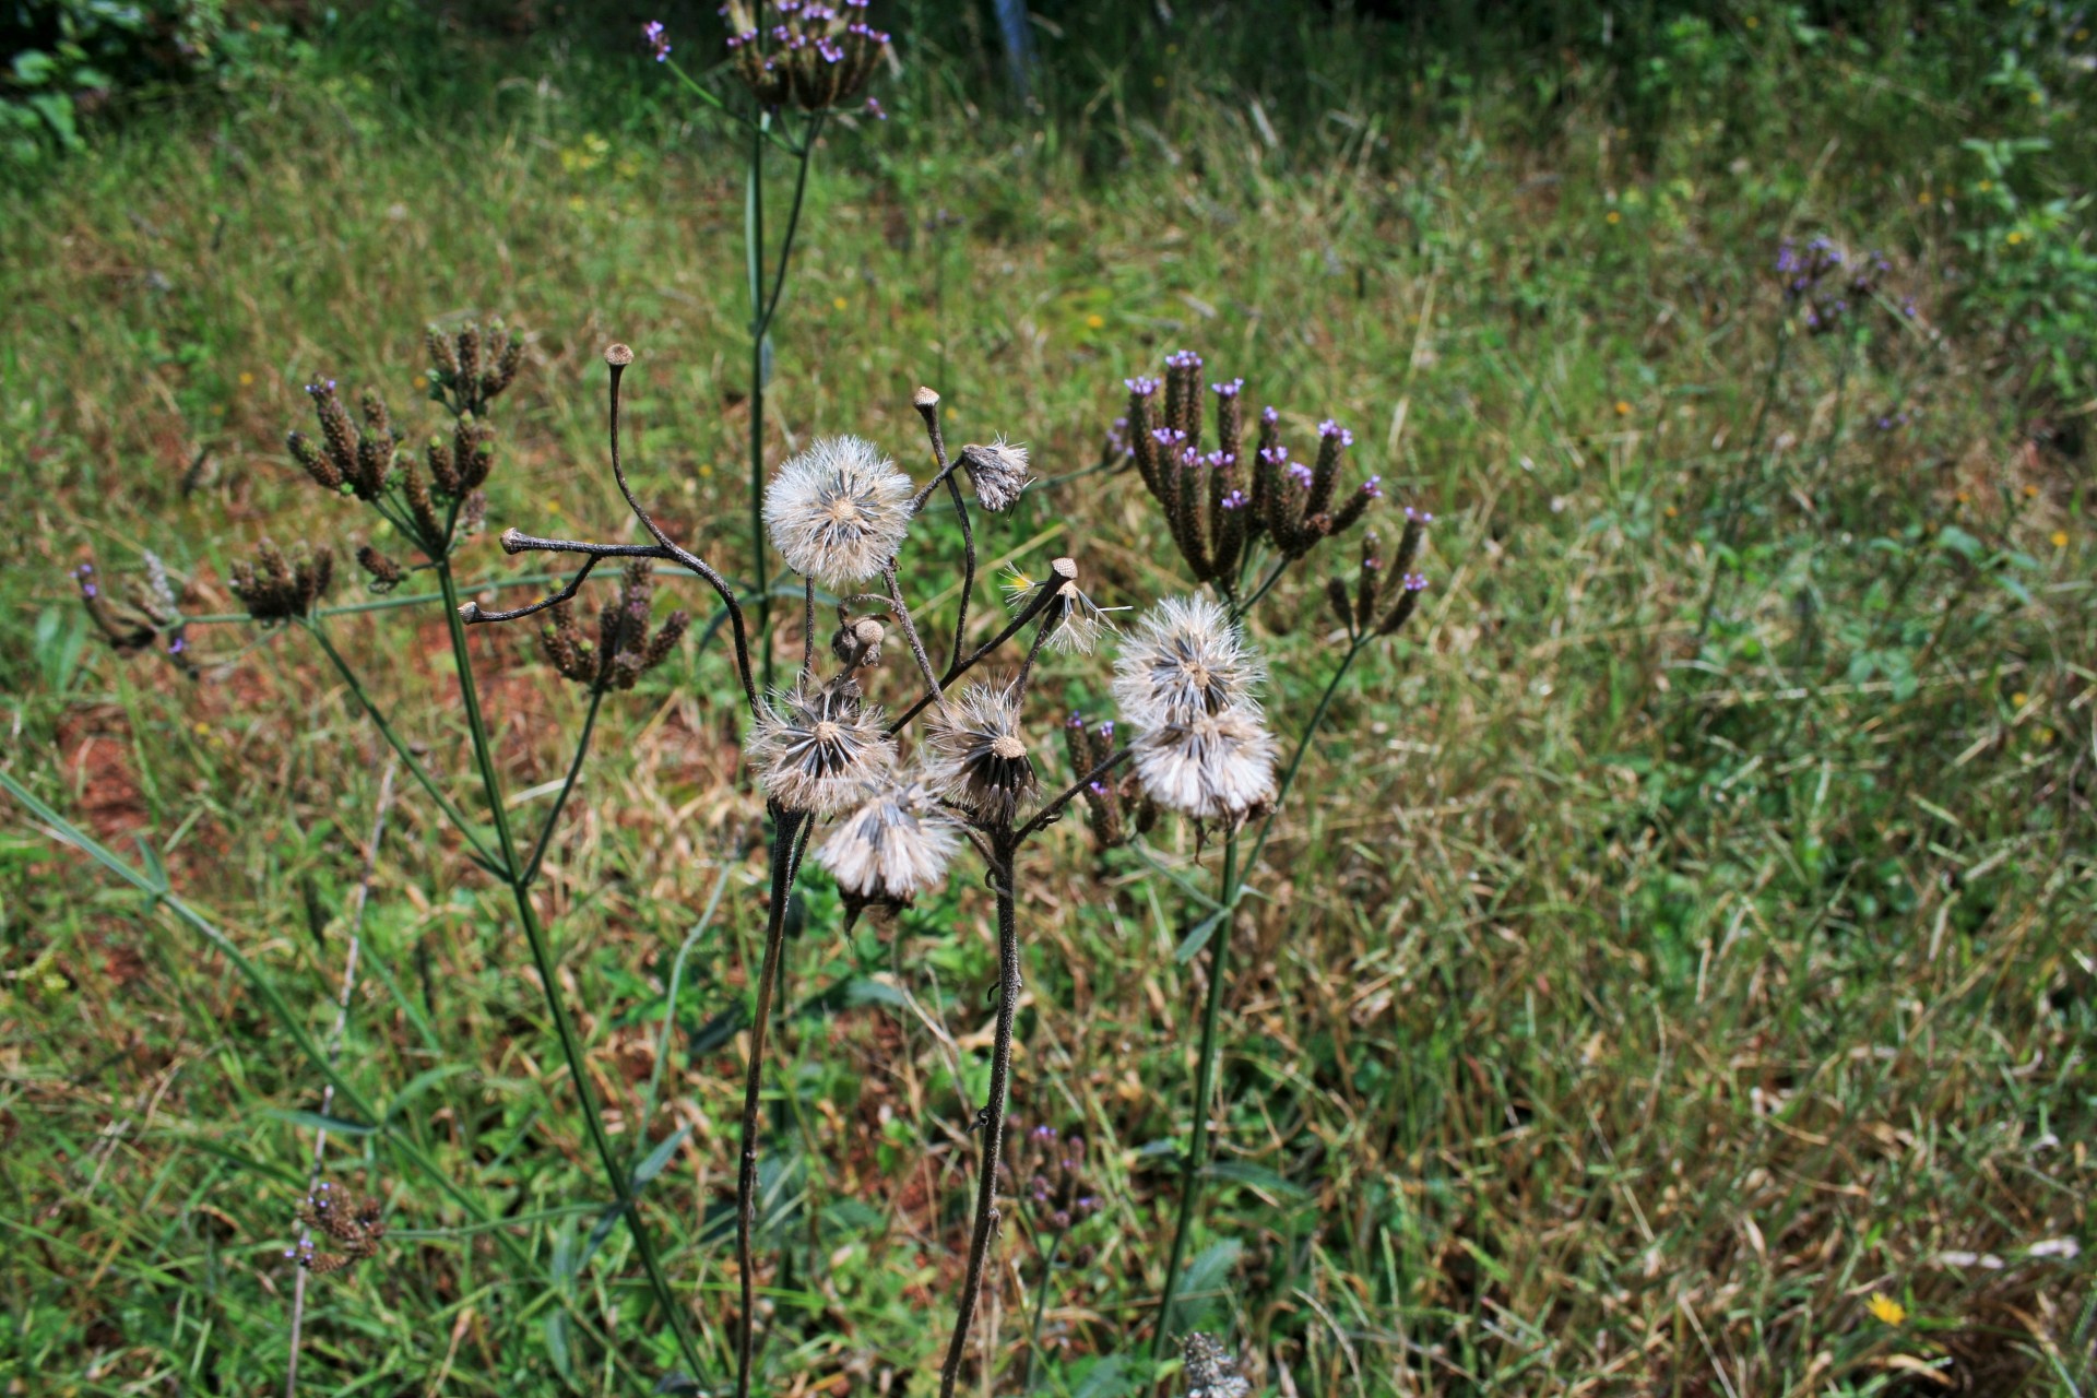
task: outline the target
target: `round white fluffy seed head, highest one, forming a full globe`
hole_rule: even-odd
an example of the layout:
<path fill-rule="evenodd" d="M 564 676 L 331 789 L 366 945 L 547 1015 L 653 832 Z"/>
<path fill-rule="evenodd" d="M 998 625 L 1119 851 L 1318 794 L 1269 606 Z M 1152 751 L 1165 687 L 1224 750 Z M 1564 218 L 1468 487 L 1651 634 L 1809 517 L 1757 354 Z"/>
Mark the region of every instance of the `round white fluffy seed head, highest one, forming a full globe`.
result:
<path fill-rule="evenodd" d="M 881 572 L 908 528 L 910 478 L 864 438 L 820 438 L 765 486 L 772 547 L 824 587 Z"/>

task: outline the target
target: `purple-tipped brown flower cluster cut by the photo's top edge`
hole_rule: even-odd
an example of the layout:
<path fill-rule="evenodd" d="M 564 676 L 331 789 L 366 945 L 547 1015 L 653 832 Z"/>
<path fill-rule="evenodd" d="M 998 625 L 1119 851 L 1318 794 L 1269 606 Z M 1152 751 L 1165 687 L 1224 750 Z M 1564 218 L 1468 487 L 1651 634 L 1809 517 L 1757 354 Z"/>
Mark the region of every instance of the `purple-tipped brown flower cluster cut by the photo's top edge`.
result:
<path fill-rule="evenodd" d="M 866 23 L 866 0 L 728 0 L 728 59 L 763 107 L 826 111 L 860 96 L 889 36 Z M 661 25 L 642 29 L 658 59 L 669 57 Z M 872 115 L 881 105 L 866 103 Z"/>

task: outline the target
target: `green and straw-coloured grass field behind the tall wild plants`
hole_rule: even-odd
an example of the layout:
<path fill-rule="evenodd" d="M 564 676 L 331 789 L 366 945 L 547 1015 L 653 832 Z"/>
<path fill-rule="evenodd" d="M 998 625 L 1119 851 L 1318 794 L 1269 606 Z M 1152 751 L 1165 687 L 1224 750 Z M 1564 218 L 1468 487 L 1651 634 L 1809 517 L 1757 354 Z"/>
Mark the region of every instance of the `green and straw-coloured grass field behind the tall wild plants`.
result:
<path fill-rule="evenodd" d="M 598 365 L 625 340 L 644 495 L 709 555 L 740 547 L 740 149 L 679 128 L 654 73 L 503 52 L 520 80 L 449 92 L 436 122 L 396 63 L 317 63 L 0 203 L 6 771 L 134 866 L 149 838 L 312 1037 L 377 736 L 298 633 L 195 629 L 201 681 L 82 646 L 67 568 L 117 581 L 153 549 L 189 610 L 222 612 L 254 539 L 363 539 L 281 451 L 308 425 L 300 384 L 377 386 L 434 425 L 421 327 L 468 312 L 533 335 L 491 537 L 625 534 Z M 2030 1253 L 2091 1243 L 2097 1186 L 2089 467 L 2034 436 L 2089 409 L 2034 394 L 2036 321 L 1965 291 L 2011 254 L 1973 249 L 2001 224 L 1959 147 L 2049 132 L 2032 178 L 2074 187 L 2082 113 L 1973 99 L 1959 128 L 1925 103 L 1902 134 L 1885 90 L 1910 71 L 1768 63 L 1730 88 L 1761 126 L 1638 140 L 1594 94 L 1533 136 L 1491 84 L 1405 107 L 1348 82 L 1254 119 L 1193 80 L 1130 107 L 1111 75 L 1090 126 L 1034 140 L 914 75 L 893 122 L 833 128 L 818 166 L 774 459 L 839 430 L 914 459 L 927 381 L 950 440 L 1004 432 L 1076 472 L 1120 379 L 1193 346 L 1296 442 L 1353 425 L 1388 507 L 1439 516 L 1422 616 L 1336 704 L 1233 943 L 1195 1289 L 1269 1392 L 1938 1392 L 1923 1369 L 2091 1392 L 2089 1253 Z M 1810 109 L 1829 122 L 1856 99 L 1833 155 L 1755 134 L 1801 78 L 1831 84 Z M 1774 245 L 1820 231 L 1885 247 L 1919 314 L 1850 350 L 1801 335 L 1772 377 Z M 1730 501 L 1738 549 L 1701 625 Z M 988 534 L 994 558 L 1074 553 L 1101 602 L 1176 587 L 1128 476 Z M 468 574 L 518 570 L 491 537 Z M 1258 614 L 1285 731 L 1340 654 L 1323 576 L 1350 568 L 1350 543 L 1321 553 Z M 352 572 L 338 602 L 363 597 Z M 438 614 L 331 633 L 466 801 Z M 524 631 L 474 646 L 510 790 L 558 780 L 579 698 Z M 1057 660 L 1042 723 L 1051 700 L 1097 704 L 1103 673 Z M 642 1157 L 690 1128 L 646 1214 L 709 1388 L 732 1352 L 732 1014 L 763 924 L 734 704 L 723 650 L 690 643 L 612 696 L 541 891 L 617 1140 Z M 306 1385 L 642 1392 L 675 1352 L 625 1232 L 581 1262 L 602 1184 L 514 912 L 401 786 L 344 1052 L 384 1126 L 329 1146 L 396 1239 L 310 1287 Z M 321 1077 L 191 924 L 10 811 L 0 1375 L 268 1392 L 312 1149 L 296 1113 Z M 1082 1132 L 1105 1205 L 1059 1249 L 1040 1371 L 1101 1398 L 1139 1375 L 1162 1281 L 1204 989 L 1174 947 L 1197 910 L 1076 824 L 1030 864 L 1013 1123 Z M 768 1392 L 891 1371 L 923 1390 L 937 1362 L 990 905 L 960 876 L 843 937 L 809 880 L 765 1157 Z M 522 1222 L 497 1241 L 474 1209 Z M 1019 1211 L 981 1318 L 1004 1392 L 1038 1258 Z"/>

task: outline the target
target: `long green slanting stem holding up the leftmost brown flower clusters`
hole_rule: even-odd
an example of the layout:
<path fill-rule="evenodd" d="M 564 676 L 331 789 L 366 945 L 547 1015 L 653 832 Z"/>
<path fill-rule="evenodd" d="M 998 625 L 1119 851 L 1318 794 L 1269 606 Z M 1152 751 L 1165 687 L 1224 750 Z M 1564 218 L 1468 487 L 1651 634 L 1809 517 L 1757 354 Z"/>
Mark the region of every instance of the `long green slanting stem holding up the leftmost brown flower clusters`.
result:
<path fill-rule="evenodd" d="M 640 1209 L 635 1207 L 635 1199 L 627 1186 L 627 1172 L 617 1151 L 612 1151 L 612 1140 L 604 1130 L 604 1113 L 598 1109 L 598 1094 L 589 1084 L 589 1065 L 583 1058 L 575 1023 L 568 1017 L 568 1002 L 560 993 L 556 960 L 547 943 L 545 929 L 539 922 L 539 905 L 531 895 L 531 878 L 535 870 L 518 861 L 516 838 L 510 830 L 510 811 L 503 805 L 501 778 L 495 771 L 495 744 L 489 740 L 489 727 L 480 715 L 480 692 L 474 685 L 474 660 L 466 646 L 466 618 L 459 614 L 459 593 L 451 576 L 449 560 L 440 560 L 436 564 L 436 581 L 445 593 L 445 622 L 451 635 L 451 660 L 459 677 L 459 700 L 466 708 L 466 727 L 474 746 L 474 765 L 480 769 L 482 794 L 489 803 L 489 815 L 495 822 L 495 843 L 501 853 L 503 882 L 510 887 L 518 920 L 524 924 L 524 941 L 531 947 L 533 966 L 539 973 L 539 993 L 545 998 L 547 1012 L 554 1017 L 554 1033 L 560 1040 L 560 1054 L 568 1065 L 568 1077 L 575 1082 L 575 1096 L 583 1109 L 583 1126 L 589 1134 L 589 1144 L 598 1153 L 598 1163 L 604 1167 L 604 1180 L 612 1191 L 612 1199 L 617 1201 L 621 1216 L 625 1218 L 627 1232 L 633 1237 L 633 1251 L 642 1260 L 642 1270 L 648 1272 L 648 1287 L 654 1291 L 656 1304 L 669 1318 L 684 1362 L 690 1364 L 696 1375 L 700 1373 L 698 1346 L 692 1339 L 686 1312 L 677 1304 L 677 1297 L 669 1287 L 669 1279 L 663 1274 L 663 1262 L 656 1258 L 654 1241 L 642 1224 Z M 579 769 L 581 757 L 577 757 L 577 763 L 568 771 L 570 786 Z M 556 803 L 554 815 L 560 813 L 560 805 L 564 801 L 566 790 L 562 792 L 562 801 Z"/>

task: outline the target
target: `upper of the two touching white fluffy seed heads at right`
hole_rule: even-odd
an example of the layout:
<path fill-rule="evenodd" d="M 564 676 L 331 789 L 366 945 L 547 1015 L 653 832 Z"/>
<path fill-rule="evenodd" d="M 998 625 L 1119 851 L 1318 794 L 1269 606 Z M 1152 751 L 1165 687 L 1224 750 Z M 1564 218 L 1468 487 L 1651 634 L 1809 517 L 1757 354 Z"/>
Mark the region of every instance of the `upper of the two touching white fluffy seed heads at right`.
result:
<path fill-rule="evenodd" d="M 1166 597 L 1114 662 L 1114 702 L 1141 729 L 1225 708 L 1258 713 L 1267 671 L 1229 612 L 1208 597 Z"/>

